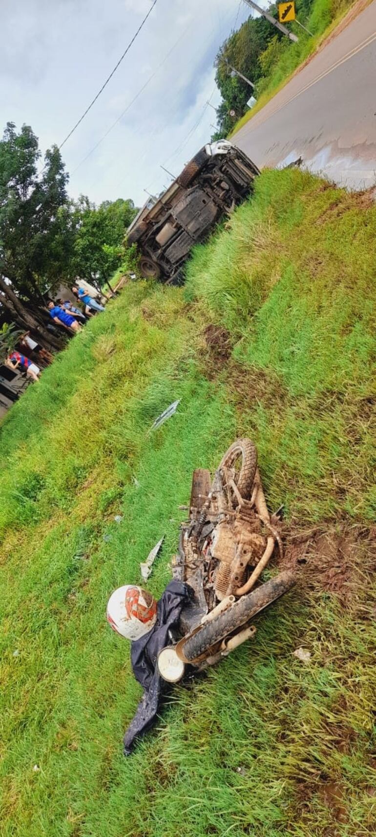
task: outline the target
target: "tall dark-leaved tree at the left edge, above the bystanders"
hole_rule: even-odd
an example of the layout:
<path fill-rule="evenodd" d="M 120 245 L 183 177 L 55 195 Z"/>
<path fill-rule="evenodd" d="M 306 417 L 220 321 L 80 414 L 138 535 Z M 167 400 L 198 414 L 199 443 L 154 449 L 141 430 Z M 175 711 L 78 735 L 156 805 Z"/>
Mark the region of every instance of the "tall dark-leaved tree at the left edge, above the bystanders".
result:
<path fill-rule="evenodd" d="M 57 146 L 46 152 L 38 172 L 40 157 L 31 127 L 17 133 L 8 122 L 0 141 L 0 301 L 39 340 L 48 336 L 60 347 L 59 338 L 46 335 L 38 306 L 67 258 L 59 210 L 68 200 L 68 174 Z"/>

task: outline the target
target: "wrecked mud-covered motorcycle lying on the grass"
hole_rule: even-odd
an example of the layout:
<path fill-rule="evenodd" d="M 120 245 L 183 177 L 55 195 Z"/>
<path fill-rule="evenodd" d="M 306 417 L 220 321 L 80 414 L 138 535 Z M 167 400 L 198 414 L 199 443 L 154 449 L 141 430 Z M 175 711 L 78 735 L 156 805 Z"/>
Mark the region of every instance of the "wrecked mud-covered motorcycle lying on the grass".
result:
<path fill-rule="evenodd" d="M 174 578 L 189 584 L 191 603 L 180 616 L 180 637 L 160 651 L 158 668 L 176 682 L 185 666 L 204 669 L 256 633 L 251 621 L 295 583 L 293 573 L 273 576 L 255 588 L 277 545 L 279 517 L 267 509 L 257 449 L 237 439 L 214 480 L 193 474 L 189 520 L 181 526 Z"/>

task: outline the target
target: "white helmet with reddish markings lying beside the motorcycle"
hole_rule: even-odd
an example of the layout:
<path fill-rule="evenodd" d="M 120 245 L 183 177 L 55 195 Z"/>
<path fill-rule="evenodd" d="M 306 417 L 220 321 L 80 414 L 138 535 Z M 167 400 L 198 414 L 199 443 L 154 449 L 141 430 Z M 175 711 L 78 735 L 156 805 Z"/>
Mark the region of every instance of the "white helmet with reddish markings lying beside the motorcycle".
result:
<path fill-rule="evenodd" d="M 107 605 L 107 621 L 125 639 L 140 639 L 155 624 L 157 603 L 154 596 L 136 584 L 114 590 Z"/>

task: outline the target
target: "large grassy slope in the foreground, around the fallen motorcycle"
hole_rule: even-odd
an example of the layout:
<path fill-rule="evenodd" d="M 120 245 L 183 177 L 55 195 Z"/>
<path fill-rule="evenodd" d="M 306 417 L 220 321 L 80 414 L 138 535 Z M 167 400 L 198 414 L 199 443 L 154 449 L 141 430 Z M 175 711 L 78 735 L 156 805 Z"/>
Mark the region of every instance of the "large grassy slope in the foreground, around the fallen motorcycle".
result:
<path fill-rule="evenodd" d="M 366 197 L 265 172 L 230 229 L 196 249 L 185 289 L 128 286 L 8 413 L 3 837 L 373 834 L 375 233 Z M 165 533 L 149 585 L 161 592 L 191 470 L 238 434 L 257 442 L 290 531 L 342 533 L 346 578 L 335 593 L 303 573 L 252 644 L 175 688 L 125 760 L 140 690 L 107 598 L 140 580 Z"/>

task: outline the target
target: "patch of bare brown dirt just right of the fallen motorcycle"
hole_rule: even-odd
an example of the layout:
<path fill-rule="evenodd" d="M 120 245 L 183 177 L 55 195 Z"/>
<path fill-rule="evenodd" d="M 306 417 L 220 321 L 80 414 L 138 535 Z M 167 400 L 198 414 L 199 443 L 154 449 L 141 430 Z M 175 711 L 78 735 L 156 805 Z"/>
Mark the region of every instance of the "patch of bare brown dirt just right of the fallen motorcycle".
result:
<path fill-rule="evenodd" d="M 282 533 L 282 569 L 294 569 L 305 586 L 334 593 L 346 606 L 358 597 L 364 576 L 376 573 L 376 526 L 322 526 Z"/>

